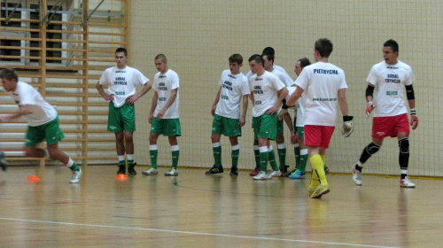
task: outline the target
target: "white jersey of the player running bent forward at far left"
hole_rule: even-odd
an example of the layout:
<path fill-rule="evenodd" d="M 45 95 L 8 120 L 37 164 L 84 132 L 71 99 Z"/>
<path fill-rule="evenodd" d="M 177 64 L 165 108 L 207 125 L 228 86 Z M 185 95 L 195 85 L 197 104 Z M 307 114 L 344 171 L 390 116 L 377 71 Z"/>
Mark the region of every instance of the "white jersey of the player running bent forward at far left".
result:
<path fill-rule="evenodd" d="M 10 94 L 17 105 L 29 105 L 29 112 L 25 115 L 28 126 L 41 126 L 57 118 L 55 108 L 43 99 L 40 92 L 26 82 L 18 81 L 17 89 Z"/>

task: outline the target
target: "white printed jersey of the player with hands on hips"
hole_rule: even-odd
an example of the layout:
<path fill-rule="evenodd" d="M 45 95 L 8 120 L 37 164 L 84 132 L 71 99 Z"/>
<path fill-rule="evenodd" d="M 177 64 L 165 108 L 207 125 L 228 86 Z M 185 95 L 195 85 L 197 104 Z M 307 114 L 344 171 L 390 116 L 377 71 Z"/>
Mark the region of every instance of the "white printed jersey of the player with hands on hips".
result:
<path fill-rule="evenodd" d="M 135 68 L 117 66 L 107 68 L 98 83 L 108 86 L 108 94 L 113 94 L 113 105 L 118 108 L 125 104 L 126 98 L 136 94 L 136 85 L 144 85 L 149 79 Z"/>

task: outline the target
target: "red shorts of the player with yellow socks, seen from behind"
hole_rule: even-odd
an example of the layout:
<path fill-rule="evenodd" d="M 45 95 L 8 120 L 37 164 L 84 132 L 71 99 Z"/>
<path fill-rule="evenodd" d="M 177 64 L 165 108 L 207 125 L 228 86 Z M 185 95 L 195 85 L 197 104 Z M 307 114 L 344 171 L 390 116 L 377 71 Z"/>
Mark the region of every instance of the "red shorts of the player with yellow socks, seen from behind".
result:
<path fill-rule="evenodd" d="M 330 137 L 335 127 L 305 125 L 305 143 L 309 146 L 320 146 L 328 148 Z"/>

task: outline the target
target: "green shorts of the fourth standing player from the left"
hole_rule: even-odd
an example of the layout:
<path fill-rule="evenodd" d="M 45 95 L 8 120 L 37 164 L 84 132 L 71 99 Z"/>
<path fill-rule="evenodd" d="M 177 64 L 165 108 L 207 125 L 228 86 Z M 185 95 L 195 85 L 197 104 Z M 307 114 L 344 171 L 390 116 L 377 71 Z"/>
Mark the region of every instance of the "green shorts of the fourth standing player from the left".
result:
<path fill-rule="evenodd" d="M 267 138 L 276 140 L 276 122 L 278 113 L 272 115 L 263 114 L 259 117 L 253 117 L 254 139 Z"/>

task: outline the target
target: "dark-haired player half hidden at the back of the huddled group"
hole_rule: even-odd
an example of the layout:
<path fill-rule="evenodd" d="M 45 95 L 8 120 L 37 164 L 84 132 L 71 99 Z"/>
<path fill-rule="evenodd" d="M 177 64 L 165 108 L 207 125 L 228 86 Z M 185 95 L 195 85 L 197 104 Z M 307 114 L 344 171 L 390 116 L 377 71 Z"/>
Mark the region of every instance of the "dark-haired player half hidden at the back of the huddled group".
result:
<path fill-rule="evenodd" d="M 281 71 L 278 71 L 274 68 L 274 54 L 273 53 L 263 53 L 261 54 L 261 58 L 263 58 L 265 70 L 267 70 L 271 74 L 275 74 L 280 81 L 283 81 L 286 87 L 291 87 L 294 84 L 291 77 L 288 74 L 284 74 Z M 291 118 L 289 114 L 286 115 Z M 278 153 L 278 160 L 280 162 L 279 169 L 282 174 L 287 172 L 286 166 L 286 143 L 284 143 L 284 116 L 277 120 L 277 133 L 276 133 L 276 147 Z M 255 141 L 254 141 L 255 143 Z"/>

